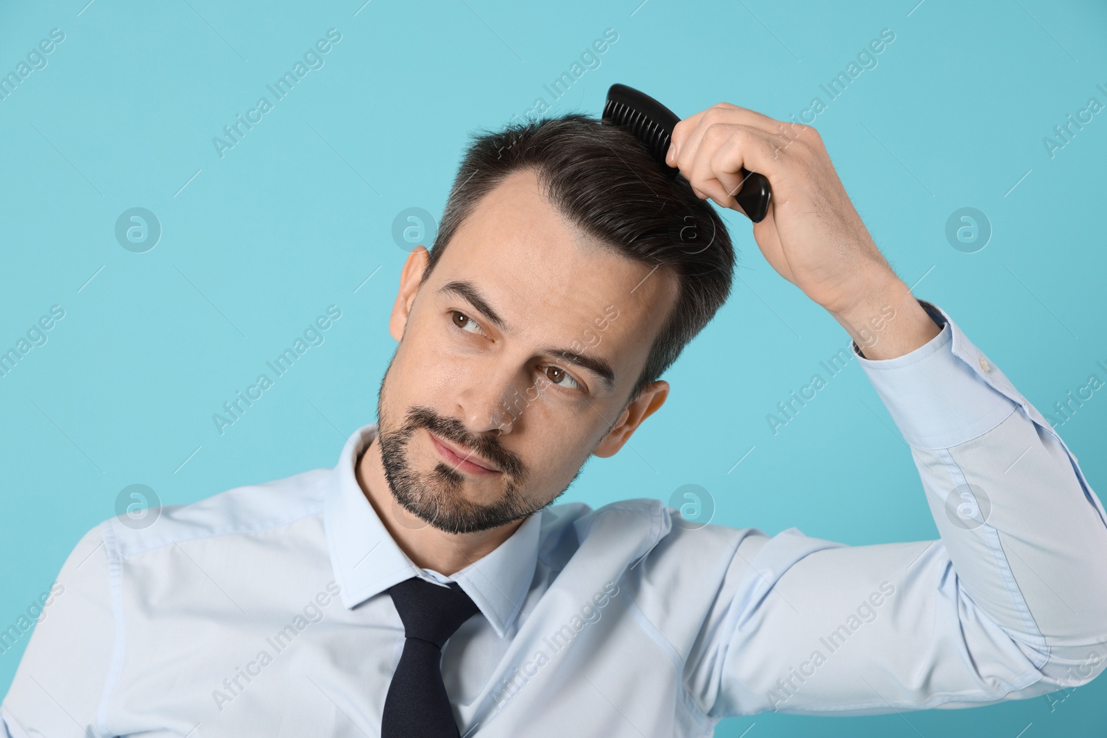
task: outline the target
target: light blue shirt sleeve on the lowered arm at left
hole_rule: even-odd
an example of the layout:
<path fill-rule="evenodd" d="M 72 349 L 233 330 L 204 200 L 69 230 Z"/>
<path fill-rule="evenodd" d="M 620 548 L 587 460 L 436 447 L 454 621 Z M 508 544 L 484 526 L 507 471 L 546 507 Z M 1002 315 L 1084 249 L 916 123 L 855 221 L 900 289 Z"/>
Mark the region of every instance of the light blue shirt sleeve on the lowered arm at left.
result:
<path fill-rule="evenodd" d="M 62 564 L 0 704 L 0 736 L 110 735 L 97 714 L 117 640 L 103 531 L 89 531 Z"/>

